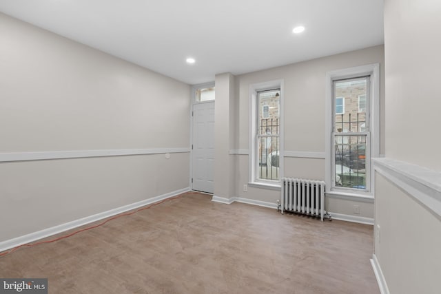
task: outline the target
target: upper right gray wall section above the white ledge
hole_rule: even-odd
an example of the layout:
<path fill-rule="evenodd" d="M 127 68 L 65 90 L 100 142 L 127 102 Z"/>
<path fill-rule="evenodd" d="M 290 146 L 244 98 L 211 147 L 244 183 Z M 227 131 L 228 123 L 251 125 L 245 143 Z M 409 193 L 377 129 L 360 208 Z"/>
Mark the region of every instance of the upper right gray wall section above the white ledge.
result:
<path fill-rule="evenodd" d="M 435 171 L 441 171 L 440 14 L 440 1 L 385 1 L 387 156 Z"/>

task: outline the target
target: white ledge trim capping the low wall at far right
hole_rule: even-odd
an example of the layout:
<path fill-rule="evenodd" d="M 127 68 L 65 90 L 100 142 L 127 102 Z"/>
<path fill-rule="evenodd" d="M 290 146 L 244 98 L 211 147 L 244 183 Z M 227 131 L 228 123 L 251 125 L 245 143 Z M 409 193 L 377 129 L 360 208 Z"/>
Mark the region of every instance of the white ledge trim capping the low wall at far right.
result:
<path fill-rule="evenodd" d="M 375 158 L 374 169 L 441 218 L 441 173 L 392 158 Z"/>

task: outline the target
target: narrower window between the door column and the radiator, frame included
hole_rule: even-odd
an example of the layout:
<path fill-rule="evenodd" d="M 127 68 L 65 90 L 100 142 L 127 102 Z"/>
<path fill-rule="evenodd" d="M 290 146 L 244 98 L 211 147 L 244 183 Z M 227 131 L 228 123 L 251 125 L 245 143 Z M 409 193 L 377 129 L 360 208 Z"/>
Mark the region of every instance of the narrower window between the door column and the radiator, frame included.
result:
<path fill-rule="evenodd" d="M 249 99 L 249 185 L 280 189 L 283 80 L 250 85 Z"/>

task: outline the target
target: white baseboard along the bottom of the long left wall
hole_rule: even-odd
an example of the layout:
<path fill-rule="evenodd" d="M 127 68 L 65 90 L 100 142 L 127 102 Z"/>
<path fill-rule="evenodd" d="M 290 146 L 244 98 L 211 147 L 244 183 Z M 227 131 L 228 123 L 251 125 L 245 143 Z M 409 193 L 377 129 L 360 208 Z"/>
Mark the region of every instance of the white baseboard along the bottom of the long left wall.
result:
<path fill-rule="evenodd" d="M 109 218 L 110 216 L 115 216 L 119 213 L 123 213 L 125 211 L 130 211 L 132 209 L 137 209 L 139 207 L 143 207 L 148 204 L 152 204 L 154 202 L 158 202 L 167 198 L 171 198 L 173 196 L 176 196 L 181 193 L 185 193 L 187 191 L 191 191 L 189 187 L 184 189 L 179 189 L 176 191 L 172 191 L 170 193 L 165 193 L 160 196 L 156 196 L 154 198 L 149 198 L 146 200 L 142 200 L 139 202 L 135 202 L 132 204 L 127 204 L 122 207 L 118 207 L 116 209 L 111 209 L 108 211 L 103 211 L 101 213 L 96 213 L 93 216 L 87 216 L 85 218 L 80 218 L 79 220 L 73 220 L 72 222 L 66 222 L 65 224 L 59 224 L 55 227 L 50 227 L 48 229 L 43 229 L 41 231 L 37 231 L 34 233 L 29 233 L 27 235 L 22 235 L 17 238 L 13 238 L 10 240 L 6 240 L 3 242 L 0 242 L 0 252 L 6 251 L 8 249 L 14 248 L 16 246 L 22 245 L 22 244 L 28 244 L 30 242 L 34 242 L 43 238 L 47 238 L 50 235 L 55 235 L 57 233 L 62 233 L 63 231 L 68 231 L 70 229 L 74 229 L 76 227 L 81 227 L 85 224 L 90 224 L 91 222 L 96 222 L 97 220 L 102 220 L 103 218 Z"/>

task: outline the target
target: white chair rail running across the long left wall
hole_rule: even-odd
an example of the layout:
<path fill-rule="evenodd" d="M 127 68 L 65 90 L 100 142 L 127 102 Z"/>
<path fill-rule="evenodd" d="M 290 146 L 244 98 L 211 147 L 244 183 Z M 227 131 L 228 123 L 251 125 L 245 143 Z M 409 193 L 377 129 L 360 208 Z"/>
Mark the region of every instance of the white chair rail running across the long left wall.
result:
<path fill-rule="evenodd" d="M 190 151 L 189 148 L 157 148 L 157 149 L 102 149 L 102 150 L 10 152 L 10 153 L 0 153 L 0 162 L 65 159 L 65 158 L 87 158 L 87 157 L 103 157 L 103 156 L 186 153 L 189 151 Z"/>

